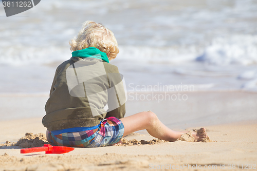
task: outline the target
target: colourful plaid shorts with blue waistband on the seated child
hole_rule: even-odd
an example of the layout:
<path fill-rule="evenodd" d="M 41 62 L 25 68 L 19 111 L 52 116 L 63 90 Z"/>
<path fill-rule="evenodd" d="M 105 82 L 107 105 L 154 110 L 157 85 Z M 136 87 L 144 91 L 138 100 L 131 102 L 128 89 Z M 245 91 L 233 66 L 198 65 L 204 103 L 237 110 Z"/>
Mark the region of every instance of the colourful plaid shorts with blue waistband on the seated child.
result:
<path fill-rule="evenodd" d="M 67 132 L 53 135 L 50 131 L 48 137 L 50 143 L 58 146 L 69 147 L 102 147 L 115 144 L 124 134 L 122 122 L 115 117 L 109 117 L 101 121 L 98 128 L 79 132 Z"/>

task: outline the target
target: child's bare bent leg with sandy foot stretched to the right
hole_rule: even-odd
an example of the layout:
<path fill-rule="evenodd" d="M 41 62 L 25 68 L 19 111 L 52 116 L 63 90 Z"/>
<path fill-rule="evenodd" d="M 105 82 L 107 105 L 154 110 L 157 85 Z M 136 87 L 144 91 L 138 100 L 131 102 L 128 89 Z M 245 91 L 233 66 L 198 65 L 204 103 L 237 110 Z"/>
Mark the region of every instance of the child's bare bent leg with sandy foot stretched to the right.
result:
<path fill-rule="evenodd" d="M 167 141 L 176 141 L 183 133 L 188 132 L 171 130 L 161 123 L 155 113 L 152 111 L 143 111 L 129 117 L 121 118 L 120 120 L 124 125 L 123 137 L 131 134 L 132 132 L 146 129 L 149 134 L 155 138 Z M 193 136 L 195 140 L 207 138 L 205 128 L 198 131 L 197 134 Z"/>

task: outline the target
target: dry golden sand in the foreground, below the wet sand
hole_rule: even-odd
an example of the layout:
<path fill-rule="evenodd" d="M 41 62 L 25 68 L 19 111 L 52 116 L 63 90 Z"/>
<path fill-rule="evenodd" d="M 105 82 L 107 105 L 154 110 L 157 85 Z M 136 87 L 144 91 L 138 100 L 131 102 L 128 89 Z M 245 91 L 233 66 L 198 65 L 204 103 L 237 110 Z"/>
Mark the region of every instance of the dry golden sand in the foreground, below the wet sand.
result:
<path fill-rule="evenodd" d="M 37 136 L 40 137 L 44 134 L 39 134 L 45 131 L 45 128 L 40 125 L 41 118 L 22 121 L 27 124 L 20 129 L 17 129 L 15 123 L 21 120 L 0 122 L 2 130 L 9 128 L 7 131 L 9 136 L 5 138 L 6 133 L 3 132 L 0 136 L 1 140 L 6 142 L 16 138 L 18 141 L 24 137 L 26 133 L 23 132 L 24 130 L 33 132 L 33 136 L 38 134 Z M 214 142 L 158 142 L 155 140 L 157 141 L 155 144 L 142 144 L 141 140 L 151 142 L 154 138 L 147 132 L 140 132 L 125 138 L 127 141 L 135 139 L 136 142 L 141 143 L 139 145 L 75 148 L 61 155 L 46 155 L 44 152 L 20 154 L 19 146 L 2 146 L 0 170 L 149 170 L 161 167 L 168 170 L 172 167 L 177 167 L 175 170 L 221 170 L 224 165 L 226 169 L 222 170 L 238 170 L 229 169 L 229 164 L 238 164 L 239 167 L 242 167 L 241 164 L 244 167 L 246 164 L 248 167 L 249 164 L 251 166 L 257 164 L 256 121 L 205 127 Z M 31 134 L 27 136 L 33 137 Z"/>

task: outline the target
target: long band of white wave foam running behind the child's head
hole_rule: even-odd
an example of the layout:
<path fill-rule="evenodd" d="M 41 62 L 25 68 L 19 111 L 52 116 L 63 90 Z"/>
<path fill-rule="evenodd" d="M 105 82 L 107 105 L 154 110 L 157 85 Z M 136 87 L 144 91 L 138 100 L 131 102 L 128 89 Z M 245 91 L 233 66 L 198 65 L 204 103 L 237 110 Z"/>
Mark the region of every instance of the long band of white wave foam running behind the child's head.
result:
<path fill-rule="evenodd" d="M 74 33 L 73 29 L 65 33 Z M 4 45 L 4 44 L 3 44 Z M 0 49 L 0 64 L 23 65 L 45 64 L 69 59 L 69 46 L 35 47 L 4 45 Z M 117 60 L 132 60 L 143 63 L 157 62 L 179 64 L 203 62 L 212 65 L 257 64 L 257 35 L 233 35 L 217 37 L 206 48 L 197 46 L 119 46 Z"/>

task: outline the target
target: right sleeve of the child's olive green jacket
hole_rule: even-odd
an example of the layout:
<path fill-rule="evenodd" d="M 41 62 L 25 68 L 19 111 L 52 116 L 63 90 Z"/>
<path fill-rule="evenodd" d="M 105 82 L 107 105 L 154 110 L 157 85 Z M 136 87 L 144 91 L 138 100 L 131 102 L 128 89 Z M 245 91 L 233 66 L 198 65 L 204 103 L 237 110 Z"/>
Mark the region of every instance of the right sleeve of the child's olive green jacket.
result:
<path fill-rule="evenodd" d="M 118 119 L 125 116 L 126 94 L 123 85 L 123 75 L 119 73 L 118 67 L 114 66 L 112 73 L 108 73 L 108 110 L 105 118 L 116 117 Z"/>

